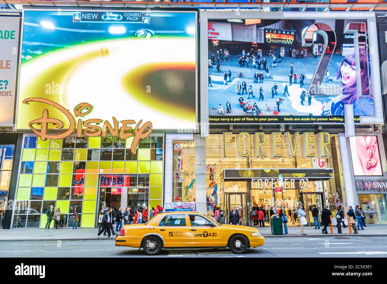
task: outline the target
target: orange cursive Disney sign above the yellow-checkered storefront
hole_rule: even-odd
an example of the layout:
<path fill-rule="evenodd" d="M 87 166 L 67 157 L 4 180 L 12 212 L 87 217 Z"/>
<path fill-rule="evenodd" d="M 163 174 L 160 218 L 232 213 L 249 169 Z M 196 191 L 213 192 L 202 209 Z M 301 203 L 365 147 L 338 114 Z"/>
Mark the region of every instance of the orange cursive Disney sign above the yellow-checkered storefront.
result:
<path fill-rule="evenodd" d="M 93 124 L 93 123 L 103 122 L 102 119 L 97 119 L 97 118 L 87 119 L 82 123 L 82 119 L 78 118 L 77 121 L 75 121 L 74 116 L 84 117 L 84 116 L 87 116 L 92 111 L 93 106 L 91 104 L 88 104 L 87 102 L 80 103 L 74 107 L 74 116 L 72 116 L 72 114 L 67 109 L 65 109 L 62 105 L 57 104 L 56 102 L 53 102 L 51 100 L 41 99 L 41 98 L 29 98 L 29 99 L 23 100 L 23 104 L 29 104 L 29 102 L 41 102 L 44 104 L 51 105 L 52 107 L 55 107 L 67 117 L 68 122 L 70 124 L 69 128 L 65 132 L 62 132 L 60 134 L 48 134 L 47 131 L 48 131 L 49 123 L 57 125 L 56 129 L 62 129 L 64 126 L 64 123 L 59 119 L 48 117 L 48 109 L 44 109 L 43 115 L 41 118 L 35 119 L 29 122 L 28 124 L 29 128 L 31 128 L 31 130 L 34 133 L 38 134 L 38 136 L 41 137 L 42 141 L 45 141 L 47 138 L 63 139 L 73 134 L 74 131 L 77 132 L 77 137 L 81 137 L 82 134 L 89 137 L 96 137 L 102 134 L 102 137 L 106 137 L 106 134 L 108 133 L 108 130 L 109 130 L 112 136 L 117 136 L 118 134 L 118 136 L 121 139 L 129 138 L 130 136 L 133 135 L 133 132 L 134 132 L 134 139 L 132 141 L 132 146 L 130 147 L 130 151 L 132 153 L 135 153 L 140 139 L 146 138 L 152 132 L 152 123 L 150 121 L 145 122 L 142 126 L 140 126 L 142 122 L 142 120 L 140 120 L 139 122 L 137 122 L 134 129 L 132 129 L 132 126 L 128 126 L 130 124 L 135 124 L 135 121 L 132 119 L 120 121 L 122 126 L 119 127 L 117 119 L 113 117 L 112 118 L 113 126 L 110 124 L 110 122 L 105 121 L 102 128 L 98 125 Z M 33 124 L 41 124 L 41 128 L 36 129 L 34 128 Z"/>

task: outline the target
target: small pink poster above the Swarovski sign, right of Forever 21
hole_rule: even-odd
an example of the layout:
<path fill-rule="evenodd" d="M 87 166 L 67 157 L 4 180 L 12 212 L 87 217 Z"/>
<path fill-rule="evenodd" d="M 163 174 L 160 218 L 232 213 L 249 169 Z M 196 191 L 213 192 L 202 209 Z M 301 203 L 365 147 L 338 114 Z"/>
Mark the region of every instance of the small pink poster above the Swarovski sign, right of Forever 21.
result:
<path fill-rule="evenodd" d="M 377 136 L 349 137 L 355 176 L 383 175 Z"/>

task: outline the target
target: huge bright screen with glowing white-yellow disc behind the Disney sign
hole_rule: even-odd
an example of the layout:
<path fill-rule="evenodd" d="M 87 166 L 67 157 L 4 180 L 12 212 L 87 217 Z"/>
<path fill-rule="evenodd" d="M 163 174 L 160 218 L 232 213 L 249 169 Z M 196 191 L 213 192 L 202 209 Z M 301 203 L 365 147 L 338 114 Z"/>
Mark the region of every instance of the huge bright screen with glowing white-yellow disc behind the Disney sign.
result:
<path fill-rule="evenodd" d="M 17 128 L 45 108 L 68 128 L 58 109 L 23 104 L 31 97 L 70 112 L 87 102 L 94 108 L 84 119 L 194 128 L 196 26 L 195 12 L 24 11 Z"/>

